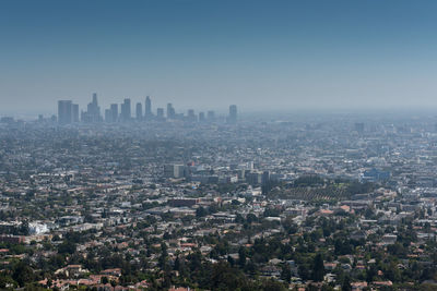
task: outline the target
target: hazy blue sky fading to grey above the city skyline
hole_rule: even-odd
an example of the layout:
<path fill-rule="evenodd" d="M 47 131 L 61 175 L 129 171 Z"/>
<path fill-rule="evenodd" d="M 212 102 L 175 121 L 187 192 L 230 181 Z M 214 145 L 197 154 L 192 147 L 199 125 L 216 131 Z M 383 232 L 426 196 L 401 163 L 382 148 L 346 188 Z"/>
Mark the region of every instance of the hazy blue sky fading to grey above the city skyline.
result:
<path fill-rule="evenodd" d="M 2 0 L 0 113 L 437 110 L 437 1 Z M 132 106 L 133 109 L 133 106 Z"/>

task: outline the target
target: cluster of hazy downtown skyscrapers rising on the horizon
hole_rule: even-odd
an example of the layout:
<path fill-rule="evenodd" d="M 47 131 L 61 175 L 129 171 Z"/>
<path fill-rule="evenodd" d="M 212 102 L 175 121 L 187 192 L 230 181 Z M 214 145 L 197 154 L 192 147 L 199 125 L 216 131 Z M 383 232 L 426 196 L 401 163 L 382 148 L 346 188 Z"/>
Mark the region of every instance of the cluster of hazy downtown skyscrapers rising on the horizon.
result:
<path fill-rule="evenodd" d="M 144 111 L 143 111 L 144 108 Z M 108 109 L 105 110 L 105 116 L 101 114 L 101 107 L 97 102 L 97 94 L 93 94 L 92 101 L 87 105 L 86 111 L 81 112 L 81 119 L 79 119 L 79 105 L 73 104 L 72 100 L 59 100 L 58 101 L 58 123 L 70 124 L 75 122 L 96 123 L 96 122 L 128 122 L 133 120 L 144 121 L 165 121 L 165 120 L 184 120 L 191 122 L 213 122 L 216 120 L 215 112 L 210 110 L 206 112 L 199 112 L 196 114 L 193 109 L 189 109 L 187 114 L 177 113 L 173 104 L 167 104 L 166 114 L 164 114 L 164 108 L 157 108 L 156 114 L 152 111 L 152 100 L 150 96 L 145 98 L 144 106 L 141 102 L 137 102 L 134 109 L 134 116 L 132 116 L 132 105 L 129 98 L 126 98 L 120 105 L 111 104 Z M 227 117 L 228 123 L 237 122 L 237 106 L 229 106 L 229 114 Z"/>

